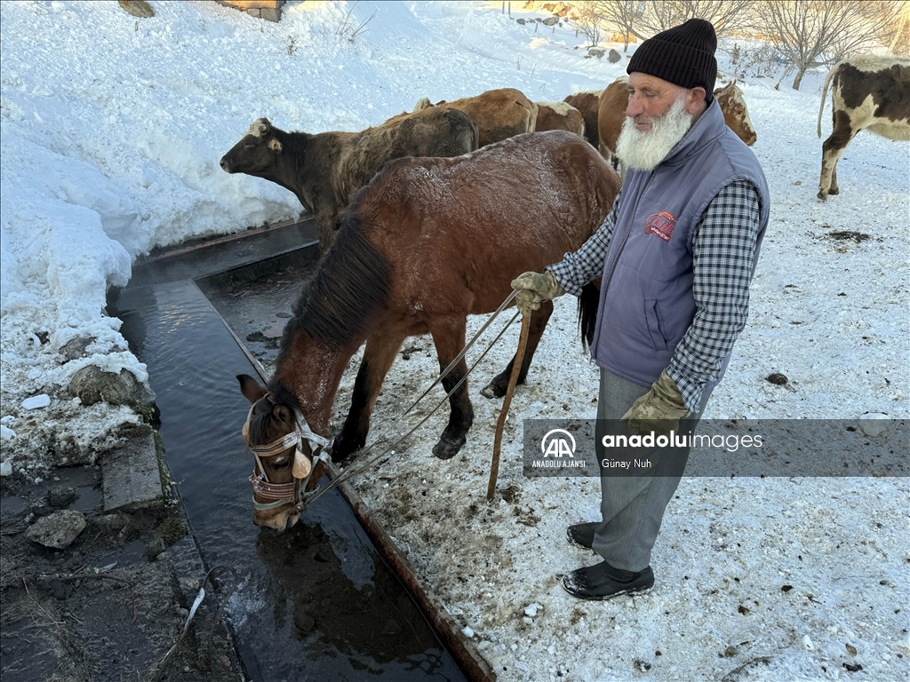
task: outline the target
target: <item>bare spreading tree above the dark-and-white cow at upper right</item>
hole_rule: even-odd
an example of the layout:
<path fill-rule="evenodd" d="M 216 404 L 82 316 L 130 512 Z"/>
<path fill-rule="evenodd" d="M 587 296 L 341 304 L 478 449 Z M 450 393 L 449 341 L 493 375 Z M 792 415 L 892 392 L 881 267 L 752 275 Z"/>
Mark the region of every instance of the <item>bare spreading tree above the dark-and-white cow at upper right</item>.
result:
<path fill-rule="evenodd" d="M 888 45 L 904 2 L 870 0 L 765 0 L 759 11 L 764 33 L 796 70 L 794 90 L 805 72 Z"/>

